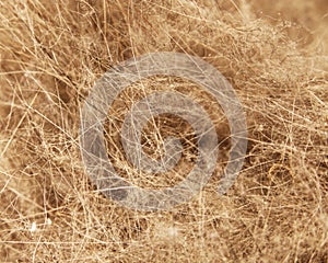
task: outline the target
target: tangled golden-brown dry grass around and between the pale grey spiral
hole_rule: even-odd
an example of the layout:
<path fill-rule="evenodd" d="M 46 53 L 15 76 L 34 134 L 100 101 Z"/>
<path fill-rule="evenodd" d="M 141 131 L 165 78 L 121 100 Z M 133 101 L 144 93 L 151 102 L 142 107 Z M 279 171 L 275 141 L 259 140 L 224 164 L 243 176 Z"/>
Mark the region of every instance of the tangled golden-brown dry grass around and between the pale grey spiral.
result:
<path fill-rule="evenodd" d="M 328 5 L 307 4 L 297 1 L 297 14 L 282 1 L 270 2 L 270 12 L 266 1 L 244 0 L 1 2 L 1 261 L 327 262 Z M 200 56 L 232 82 L 247 114 L 247 159 L 218 196 L 230 146 L 220 107 L 184 80 L 136 83 L 110 110 L 109 127 L 136 99 L 172 84 L 208 107 L 222 157 L 189 204 L 128 210 L 99 195 L 84 172 L 80 108 L 113 65 L 164 50 Z M 177 132 L 186 153 L 162 178 L 122 171 L 147 187 L 174 184 L 195 155 L 187 124 L 154 121 L 144 129 L 147 150 L 156 153 L 157 135 Z M 118 169 L 128 164 L 117 132 L 107 130 L 107 148 Z"/>

